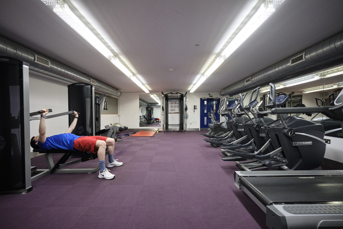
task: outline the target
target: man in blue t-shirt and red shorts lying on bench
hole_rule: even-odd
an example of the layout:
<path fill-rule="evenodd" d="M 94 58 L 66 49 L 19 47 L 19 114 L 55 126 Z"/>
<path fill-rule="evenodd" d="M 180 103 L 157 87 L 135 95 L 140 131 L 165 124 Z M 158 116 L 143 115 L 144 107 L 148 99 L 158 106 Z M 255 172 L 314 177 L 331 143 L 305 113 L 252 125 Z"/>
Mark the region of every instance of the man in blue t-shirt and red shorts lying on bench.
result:
<path fill-rule="evenodd" d="M 39 136 L 31 138 L 31 147 L 34 149 L 40 150 L 50 150 L 50 149 L 66 149 L 66 150 L 80 150 L 80 151 L 89 151 L 92 153 L 98 153 L 98 159 L 100 164 L 99 178 L 104 178 L 107 180 L 113 179 L 114 174 L 111 174 L 105 168 L 105 155 L 106 147 L 108 147 L 108 162 L 107 167 L 120 166 L 123 163 L 117 162 L 113 159 L 113 151 L 115 140 L 113 138 L 107 138 L 103 136 L 77 136 L 71 134 L 74 130 L 76 123 L 78 122 L 79 114 L 74 111 L 75 118 L 70 124 L 68 130 L 64 134 L 53 135 L 46 137 L 46 124 L 45 116 L 49 113 L 48 109 L 42 109 L 44 113 L 40 116 L 39 122 Z"/>

